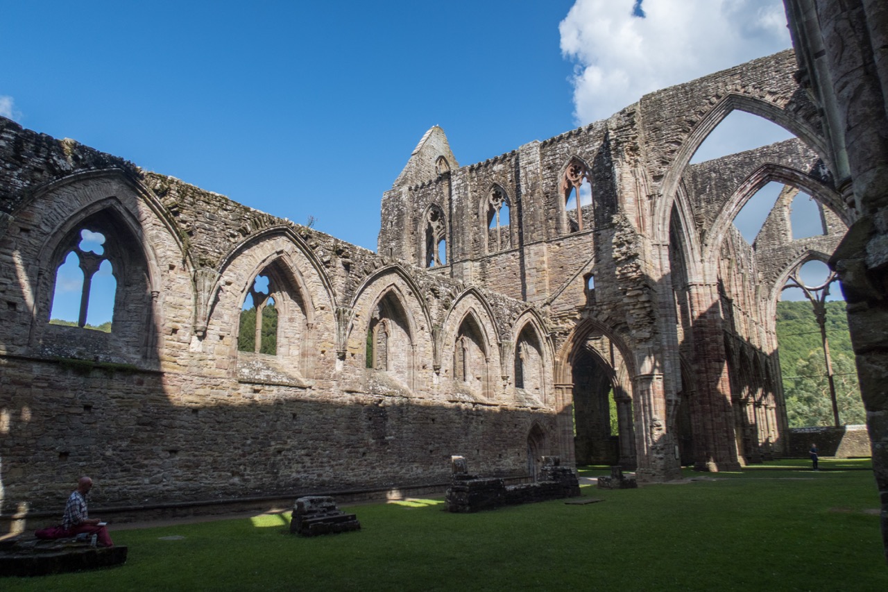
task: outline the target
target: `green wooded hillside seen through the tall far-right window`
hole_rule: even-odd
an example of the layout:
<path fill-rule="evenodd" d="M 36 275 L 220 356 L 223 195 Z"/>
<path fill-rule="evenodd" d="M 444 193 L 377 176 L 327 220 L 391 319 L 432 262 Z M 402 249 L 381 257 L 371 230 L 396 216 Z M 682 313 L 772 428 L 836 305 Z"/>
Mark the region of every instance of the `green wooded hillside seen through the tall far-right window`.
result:
<path fill-rule="evenodd" d="M 842 424 L 863 423 L 857 369 L 842 301 L 827 302 L 826 329 Z M 777 339 L 790 428 L 833 425 L 820 327 L 810 302 L 777 304 Z"/>

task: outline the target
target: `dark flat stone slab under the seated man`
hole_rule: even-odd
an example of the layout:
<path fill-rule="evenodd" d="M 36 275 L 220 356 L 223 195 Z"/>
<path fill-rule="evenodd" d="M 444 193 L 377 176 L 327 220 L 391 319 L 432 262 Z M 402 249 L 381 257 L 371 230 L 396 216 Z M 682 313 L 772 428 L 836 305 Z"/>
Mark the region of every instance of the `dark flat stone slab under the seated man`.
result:
<path fill-rule="evenodd" d="M 126 547 L 91 547 L 73 539 L 0 542 L 0 576 L 39 576 L 121 565 Z"/>

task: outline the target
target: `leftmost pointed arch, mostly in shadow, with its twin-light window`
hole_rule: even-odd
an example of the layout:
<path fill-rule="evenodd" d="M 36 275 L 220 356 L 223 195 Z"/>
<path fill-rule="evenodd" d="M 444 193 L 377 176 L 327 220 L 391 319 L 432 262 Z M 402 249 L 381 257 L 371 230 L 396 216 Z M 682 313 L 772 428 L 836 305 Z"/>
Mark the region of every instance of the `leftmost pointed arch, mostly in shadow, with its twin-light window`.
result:
<path fill-rule="evenodd" d="M 159 260 L 180 262 L 182 253 L 168 244 L 155 250 L 154 240 L 168 229 L 154 212 L 139 207 L 145 192 L 120 172 L 103 171 L 73 175 L 35 193 L 16 211 L 28 220 L 28 212 L 40 207 L 36 240 L 18 253 L 27 261 L 24 273 L 34 277 L 19 282 L 25 301 L 32 302 L 31 346 L 50 348 L 55 356 L 155 364 L 163 340 Z M 80 278 L 73 292 L 62 276 L 69 268 Z M 67 319 L 74 326 L 52 321 L 56 305 L 69 303 L 79 308 Z M 105 329 L 77 329 L 97 324 Z"/>

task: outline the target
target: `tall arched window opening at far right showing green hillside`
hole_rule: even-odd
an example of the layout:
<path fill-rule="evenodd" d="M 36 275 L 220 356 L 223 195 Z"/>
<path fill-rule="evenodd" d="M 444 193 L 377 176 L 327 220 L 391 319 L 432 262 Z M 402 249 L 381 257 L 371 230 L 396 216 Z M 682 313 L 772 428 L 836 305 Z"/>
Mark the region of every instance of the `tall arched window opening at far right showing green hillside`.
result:
<path fill-rule="evenodd" d="M 790 428 L 863 423 L 845 303 L 835 272 L 809 260 L 777 303 L 777 340 Z"/>

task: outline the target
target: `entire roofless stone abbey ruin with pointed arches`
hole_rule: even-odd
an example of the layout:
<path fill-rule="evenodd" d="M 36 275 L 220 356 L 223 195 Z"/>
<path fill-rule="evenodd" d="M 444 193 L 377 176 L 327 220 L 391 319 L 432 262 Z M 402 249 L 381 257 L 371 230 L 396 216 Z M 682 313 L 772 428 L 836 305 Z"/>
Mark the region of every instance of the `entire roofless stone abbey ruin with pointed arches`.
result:
<path fill-rule="evenodd" d="M 453 454 L 737 470 L 787 452 L 775 307 L 809 260 L 843 283 L 885 508 L 888 12 L 786 4 L 795 51 L 607 120 L 475 164 L 432 127 L 377 253 L 0 118 L 0 516 L 80 473 L 138 510 L 440 486 Z M 689 164 L 735 109 L 796 139 Z M 733 218 L 771 181 L 749 244 Z M 819 236 L 792 236 L 799 190 Z M 50 324 L 72 256 L 81 316 Z M 83 328 L 105 264 L 110 332 Z"/>

